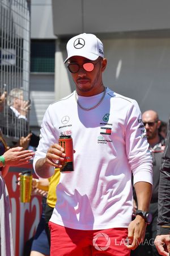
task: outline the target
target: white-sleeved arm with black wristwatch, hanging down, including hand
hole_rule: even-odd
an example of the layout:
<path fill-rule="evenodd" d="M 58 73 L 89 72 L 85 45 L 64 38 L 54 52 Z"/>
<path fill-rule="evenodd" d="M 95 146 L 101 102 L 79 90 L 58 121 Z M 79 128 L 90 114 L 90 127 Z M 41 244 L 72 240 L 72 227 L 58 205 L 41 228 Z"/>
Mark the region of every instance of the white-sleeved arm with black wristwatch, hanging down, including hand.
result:
<path fill-rule="evenodd" d="M 126 154 L 133 172 L 138 209 L 148 211 L 152 192 L 152 159 L 141 111 L 136 101 L 129 104 L 125 127 Z M 134 250 L 139 245 L 145 236 L 145 229 L 145 219 L 137 215 L 128 227 L 129 249 Z"/>

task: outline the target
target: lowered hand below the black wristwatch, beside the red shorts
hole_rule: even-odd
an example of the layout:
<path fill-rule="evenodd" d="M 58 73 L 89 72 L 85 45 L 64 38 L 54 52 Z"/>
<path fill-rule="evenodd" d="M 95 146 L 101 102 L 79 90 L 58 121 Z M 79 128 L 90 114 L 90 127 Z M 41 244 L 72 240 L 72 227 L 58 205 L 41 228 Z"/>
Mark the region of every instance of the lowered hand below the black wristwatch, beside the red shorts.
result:
<path fill-rule="evenodd" d="M 137 246 L 144 240 L 145 231 L 146 231 L 145 220 L 137 215 L 133 221 L 130 222 L 128 227 L 128 238 L 129 242 L 128 249 L 134 250 Z"/>

